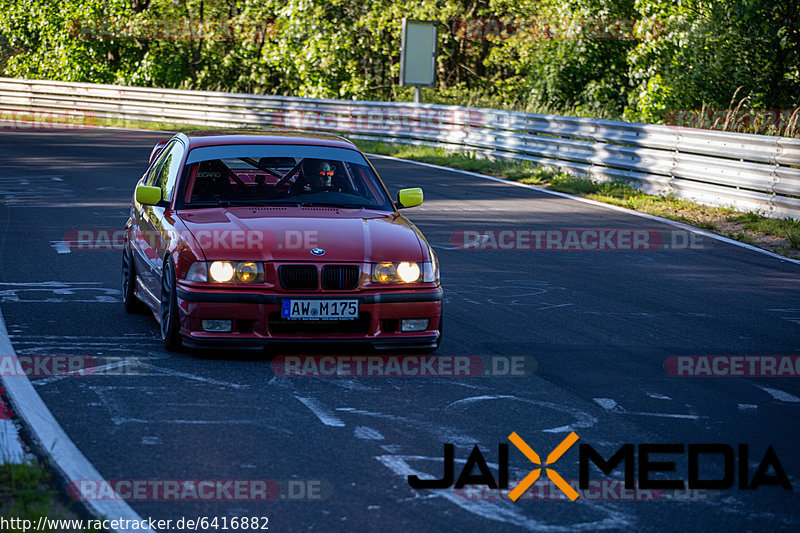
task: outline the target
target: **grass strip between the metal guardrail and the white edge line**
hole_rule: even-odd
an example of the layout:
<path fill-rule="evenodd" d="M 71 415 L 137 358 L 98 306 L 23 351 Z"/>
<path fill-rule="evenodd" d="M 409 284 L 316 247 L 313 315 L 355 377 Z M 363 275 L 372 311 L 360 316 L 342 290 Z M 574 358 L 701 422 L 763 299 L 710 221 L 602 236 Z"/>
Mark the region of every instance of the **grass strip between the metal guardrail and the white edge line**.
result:
<path fill-rule="evenodd" d="M 469 170 L 676 220 L 765 250 L 800 259 L 800 220 L 768 218 L 729 207 L 710 207 L 645 194 L 624 182 L 597 183 L 528 161 L 490 160 L 443 148 L 356 141 L 361 150 Z"/>

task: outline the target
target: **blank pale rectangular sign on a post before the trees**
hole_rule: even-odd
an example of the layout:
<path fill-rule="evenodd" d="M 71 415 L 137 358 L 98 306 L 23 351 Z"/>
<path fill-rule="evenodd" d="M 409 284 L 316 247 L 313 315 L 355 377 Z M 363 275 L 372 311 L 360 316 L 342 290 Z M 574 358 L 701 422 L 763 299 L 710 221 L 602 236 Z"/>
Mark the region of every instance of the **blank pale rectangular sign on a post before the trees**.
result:
<path fill-rule="evenodd" d="M 434 84 L 437 26 L 437 22 L 403 19 L 400 85 L 415 88 L 415 102 L 419 102 L 419 87 Z"/>

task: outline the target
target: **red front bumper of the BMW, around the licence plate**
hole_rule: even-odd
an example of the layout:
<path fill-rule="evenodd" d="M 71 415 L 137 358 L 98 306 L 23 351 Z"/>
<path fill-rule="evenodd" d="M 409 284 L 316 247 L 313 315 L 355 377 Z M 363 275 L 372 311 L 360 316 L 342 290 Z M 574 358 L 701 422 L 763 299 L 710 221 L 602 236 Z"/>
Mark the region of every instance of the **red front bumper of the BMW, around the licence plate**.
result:
<path fill-rule="evenodd" d="M 435 348 L 442 313 L 440 287 L 363 292 L 278 293 L 209 290 L 178 283 L 181 335 L 201 347 L 263 346 L 275 342 L 359 342 L 376 348 Z M 285 299 L 358 300 L 359 318 L 346 321 L 287 321 Z M 400 331 L 403 319 L 429 319 L 424 331 Z M 231 320 L 231 332 L 207 332 L 203 320 Z"/>

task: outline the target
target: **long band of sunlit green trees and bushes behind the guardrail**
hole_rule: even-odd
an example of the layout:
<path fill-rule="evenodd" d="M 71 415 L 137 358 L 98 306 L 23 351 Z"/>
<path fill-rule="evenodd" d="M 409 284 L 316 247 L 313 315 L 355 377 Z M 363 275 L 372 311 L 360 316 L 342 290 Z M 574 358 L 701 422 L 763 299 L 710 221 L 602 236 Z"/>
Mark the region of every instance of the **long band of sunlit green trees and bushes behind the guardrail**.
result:
<path fill-rule="evenodd" d="M 410 100 L 403 17 L 440 23 L 427 102 L 647 122 L 800 107 L 800 7 L 773 0 L 0 0 L 0 73 Z"/>

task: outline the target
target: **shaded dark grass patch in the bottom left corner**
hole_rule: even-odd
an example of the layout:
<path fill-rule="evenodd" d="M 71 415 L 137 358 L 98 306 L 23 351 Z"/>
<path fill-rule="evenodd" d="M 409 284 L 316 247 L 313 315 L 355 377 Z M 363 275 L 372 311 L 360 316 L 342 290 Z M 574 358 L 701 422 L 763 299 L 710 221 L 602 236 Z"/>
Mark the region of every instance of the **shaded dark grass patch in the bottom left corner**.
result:
<path fill-rule="evenodd" d="M 30 520 L 33 524 L 37 524 L 40 517 L 79 519 L 68 505 L 62 503 L 63 496 L 53 486 L 50 472 L 39 463 L 0 464 L 0 517 L 9 521 L 12 518 Z M 3 531 L 14 533 L 23 529 L 12 527 Z M 49 531 L 55 533 L 66 530 Z"/>

